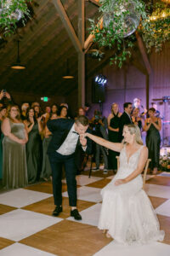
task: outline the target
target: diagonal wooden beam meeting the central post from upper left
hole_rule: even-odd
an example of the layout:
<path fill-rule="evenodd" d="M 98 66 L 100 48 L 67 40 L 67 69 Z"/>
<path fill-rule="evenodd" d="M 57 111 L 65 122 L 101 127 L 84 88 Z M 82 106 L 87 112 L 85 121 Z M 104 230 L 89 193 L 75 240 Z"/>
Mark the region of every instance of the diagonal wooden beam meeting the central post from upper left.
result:
<path fill-rule="evenodd" d="M 79 39 L 77 38 L 77 34 L 76 34 L 73 26 L 71 25 L 71 20 L 67 16 L 62 3 L 60 2 L 60 0 L 52 0 L 52 1 L 54 3 L 54 7 L 58 11 L 59 17 L 62 20 L 63 25 L 65 26 L 65 29 L 66 29 L 69 37 L 71 38 L 72 44 L 74 45 L 77 52 L 82 52 L 82 45 L 81 45 Z"/>

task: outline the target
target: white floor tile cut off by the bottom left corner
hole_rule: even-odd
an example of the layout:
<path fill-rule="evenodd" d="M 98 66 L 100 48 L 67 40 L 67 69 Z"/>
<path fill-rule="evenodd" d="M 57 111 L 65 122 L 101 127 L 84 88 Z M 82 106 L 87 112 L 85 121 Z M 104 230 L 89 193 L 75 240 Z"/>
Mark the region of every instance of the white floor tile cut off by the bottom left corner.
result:
<path fill-rule="evenodd" d="M 21 243 L 14 243 L 9 247 L 5 247 L 0 252 L 1 256 L 53 256 L 52 253 L 46 253 L 34 247 L 28 247 Z M 55 254 L 55 256 L 57 256 Z"/>

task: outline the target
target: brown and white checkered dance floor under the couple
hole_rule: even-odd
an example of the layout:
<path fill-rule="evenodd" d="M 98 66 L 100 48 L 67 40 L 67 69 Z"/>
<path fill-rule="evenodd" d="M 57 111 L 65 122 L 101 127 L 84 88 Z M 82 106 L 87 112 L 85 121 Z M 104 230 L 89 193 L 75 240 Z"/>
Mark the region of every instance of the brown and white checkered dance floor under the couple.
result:
<path fill-rule="evenodd" d="M 163 242 L 144 246 L 122 246 L 106 238 L 97 228 L 101 207 L 100 190 L 111 181 L 104 175 L 88 172 L 77 176 L 78 210 L 82 221 L 70 217 L 65 180 L 63 180 L 63 212 L 54 211 L 52 184 L 37 183 L 25 189 L 0 194 L 1 256 L 169 256 L 170 255 L 170 174 L 148 176 L 145 190 L 156 209 L 166 236 Z"/>

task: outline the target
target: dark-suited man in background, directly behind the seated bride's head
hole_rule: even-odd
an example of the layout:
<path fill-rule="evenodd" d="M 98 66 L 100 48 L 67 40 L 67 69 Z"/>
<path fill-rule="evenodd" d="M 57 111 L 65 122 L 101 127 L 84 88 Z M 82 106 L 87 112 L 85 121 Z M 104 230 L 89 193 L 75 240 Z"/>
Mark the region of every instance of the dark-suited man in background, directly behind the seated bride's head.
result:
<path fill-rule="evenodd" d="M 123 126 L 132 124 L 133 121 L 131 119 L 131 113 L 133 110 L 133 105 L 131 102 L 126 102 L 123 104 L 124 112 L 122 113 L 122 116 L 120 117 L 120 122 L 119 122 L 119 142 L 122 142 L 122 131 L 123 131 Z"/>

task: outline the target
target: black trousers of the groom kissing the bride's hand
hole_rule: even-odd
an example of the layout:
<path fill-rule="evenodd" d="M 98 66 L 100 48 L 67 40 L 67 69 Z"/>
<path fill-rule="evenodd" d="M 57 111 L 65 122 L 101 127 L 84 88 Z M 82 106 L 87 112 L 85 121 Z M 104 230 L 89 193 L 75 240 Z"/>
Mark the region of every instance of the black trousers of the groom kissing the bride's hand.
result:
<path fill-rule="evenodd" d="M 57 152 L 48 154 L 53 177 L 54 204 L 62 205 L 62 166 L 65 166 L 65 176 L 67 191 L 69 195 L 69 204 L 71 207 L 77 206 L 77 168 L 75 165 L 75 154 L 62 155 Z"/>

